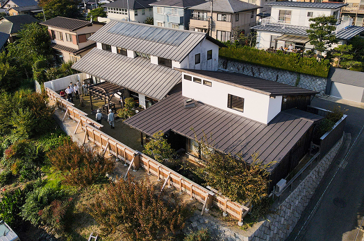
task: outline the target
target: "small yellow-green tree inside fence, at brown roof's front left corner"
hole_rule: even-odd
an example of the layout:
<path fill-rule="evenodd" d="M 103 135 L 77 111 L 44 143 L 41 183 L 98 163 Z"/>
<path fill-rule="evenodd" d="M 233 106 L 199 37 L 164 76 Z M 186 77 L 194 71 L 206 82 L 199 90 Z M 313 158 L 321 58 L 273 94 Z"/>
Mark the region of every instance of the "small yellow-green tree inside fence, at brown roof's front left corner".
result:
<path fill-rule="evenodd" d="M 163 132 L 156 132 L 152 137 L 152 140 L 145 145 L 145 150 L 143 152 L 151 155 L 159 162 L 163 162 L 164 159 L 171 159 L 175 151 L 167 142 L 166 138 L 164 138 Z"/>

